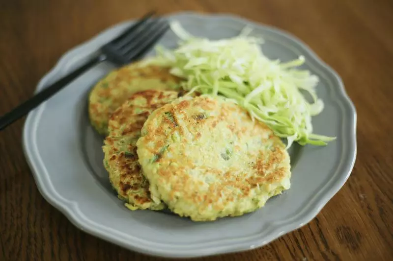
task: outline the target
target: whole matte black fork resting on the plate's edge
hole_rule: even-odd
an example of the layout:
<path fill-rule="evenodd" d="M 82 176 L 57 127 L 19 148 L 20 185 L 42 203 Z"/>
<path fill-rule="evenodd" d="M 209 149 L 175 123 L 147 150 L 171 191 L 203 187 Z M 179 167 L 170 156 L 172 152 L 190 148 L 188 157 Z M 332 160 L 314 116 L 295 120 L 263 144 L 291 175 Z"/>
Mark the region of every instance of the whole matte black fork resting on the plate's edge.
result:
<path fill-rule="evenodd" d="M 78 69 L 45 87 L 44 90 L 2 116 L 0 118 L 0 131 L 55 95 L 89 68 L 104 61 L 109 61 L 120 67 L 140 59 L 169 28 L 166 20 L 152 18 L 152 16 L 153 12 L 144 15 L 139 22 L 131 25 L 111 42 L 102 46 L 97 55 L 90 58 Z"/>

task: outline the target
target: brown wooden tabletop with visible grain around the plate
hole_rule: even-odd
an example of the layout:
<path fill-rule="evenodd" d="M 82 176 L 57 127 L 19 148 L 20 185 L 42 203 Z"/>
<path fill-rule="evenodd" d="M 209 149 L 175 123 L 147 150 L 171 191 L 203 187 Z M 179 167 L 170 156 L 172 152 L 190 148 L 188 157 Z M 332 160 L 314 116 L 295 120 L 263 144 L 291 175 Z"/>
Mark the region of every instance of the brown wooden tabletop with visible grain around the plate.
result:
<path fill-rule="evenodd" d="M 345 186 L 303 228 L 252 251 L 196 261 L 393 260 L 393 1 L 12 0 L 0 3 L 0 115 L 28 99 L 68 49 L 118 22 L 194 10 L 287 30 L 342 77 L 358 112 Z M 77 229 L 34 183 L 23 120 L 0 132 L 0 261 L 158 261 Z"/>

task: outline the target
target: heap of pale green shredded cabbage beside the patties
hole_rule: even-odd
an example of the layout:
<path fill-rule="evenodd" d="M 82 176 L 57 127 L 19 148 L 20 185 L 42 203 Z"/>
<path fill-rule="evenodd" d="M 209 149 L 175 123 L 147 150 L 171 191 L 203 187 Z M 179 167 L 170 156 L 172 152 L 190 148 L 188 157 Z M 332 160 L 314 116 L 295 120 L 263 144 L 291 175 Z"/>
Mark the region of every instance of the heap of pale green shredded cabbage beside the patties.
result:
<path fill-rule="evenodd" d="M 324 103 L 316 95 L 318 77 L 296 69 L 305 62 L 303 56 L 285 63 L 268 59 L 261 50 L 263 39 L 250 36 L 250 27 L 216 41 L 192 36 L 177 21 L 170 27 L 181 39 L 179 47 L 157 47 L 150 62 L 169 66 L 172 74 L 185 78 L 183 89 L 234 100 L 253 120 L 286 138 L 287 148 L 292 142 L 326 145 L 335 139 L 312 133 L 311 117 L 321 113 Z M 300 90 L 309 93 L 312 103 Z"/>

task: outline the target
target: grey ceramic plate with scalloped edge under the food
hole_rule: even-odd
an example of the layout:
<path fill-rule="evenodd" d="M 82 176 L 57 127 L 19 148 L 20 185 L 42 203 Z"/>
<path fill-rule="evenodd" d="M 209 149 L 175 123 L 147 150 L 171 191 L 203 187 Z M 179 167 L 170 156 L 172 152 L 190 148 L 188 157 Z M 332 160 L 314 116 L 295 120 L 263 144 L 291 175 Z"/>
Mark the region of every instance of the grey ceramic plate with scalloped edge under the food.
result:
<path fill-rule="evenodd" d="M 303 54 L 304 68 L 320 77 L 318 95 L 326 107 L 313 119 L 315 132 L 337 136 L 327 147 L 293 146 L 292 187 L 261 210 L 241 217 L 195 223 L 176 215 L 127 210 L 109 185 L 102 138 L 87 118 L 89 89 L 112 70 L 102 64 L 86 72 L 28 115 L 23 143 L 37 187 L 46 200 L 81 230 L 125 248 L 165 257 L 196 257 L 253 249 L 309 222 L 347 180 L 356 155 L 356 113 L 339 76 L 295 37 L 228 15 L 170 16 L 197 36 L 219 39 L 252 25 L 270 58 L 287 61 Z M 129 23 L 118 24 L 67 52 L 37 91 L 86 59 Z M 175 47 L 168 32 L 162 45 Z"/>

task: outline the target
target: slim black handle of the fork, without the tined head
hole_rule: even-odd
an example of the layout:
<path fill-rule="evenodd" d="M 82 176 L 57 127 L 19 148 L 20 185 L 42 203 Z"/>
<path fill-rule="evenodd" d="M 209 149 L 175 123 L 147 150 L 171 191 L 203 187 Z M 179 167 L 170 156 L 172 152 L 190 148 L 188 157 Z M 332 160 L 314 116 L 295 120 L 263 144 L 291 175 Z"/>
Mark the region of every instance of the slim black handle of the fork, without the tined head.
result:
<path fill-rule="evenodd" d="M 25 116 L 28 114 L 29 111 L 40 105 L 45 100 L 49 99 L 61 89 L 63 89 L 67 84 L 72 82 L 75 78 L 80 76 L 89 68 L 93 67 L 94 65 L 104 61 L 106 58 L 102 55 L 97 55 L 88 61 L 86 61 L 82 66 L 78 69 L 72 71 L 68 75 L 60 78 L 55 83 L 51 84 L 50 86 L 46 87 L 44 90 L 39 92 L 38 94 L 34 95 L 27 101 L 23 102 L 22 104 L 18 105 L 16 108 L 11 110 L 10 112 L 6 113 L 0 118 L 0 131 L 3 130 L 8 125 L 12 124 L 15 120 Z"/>

